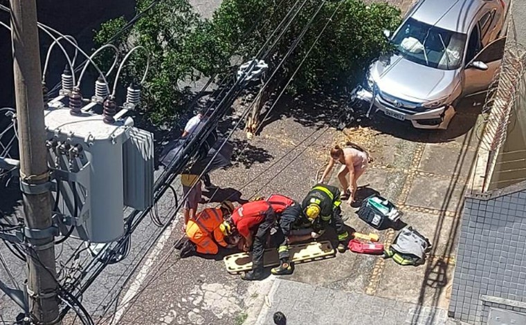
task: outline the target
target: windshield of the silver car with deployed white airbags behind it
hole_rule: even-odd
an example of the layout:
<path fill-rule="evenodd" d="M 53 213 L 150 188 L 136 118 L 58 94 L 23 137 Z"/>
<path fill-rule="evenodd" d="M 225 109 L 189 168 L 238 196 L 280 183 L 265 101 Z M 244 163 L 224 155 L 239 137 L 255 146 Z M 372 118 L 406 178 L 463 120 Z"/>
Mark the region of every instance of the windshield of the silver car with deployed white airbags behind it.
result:
<path fill-rule="evenodd" d="M 466 35 L 409 18 L 392 38 L 397 53 L 406 59 L 442 70 L 462 64 Z"/>

